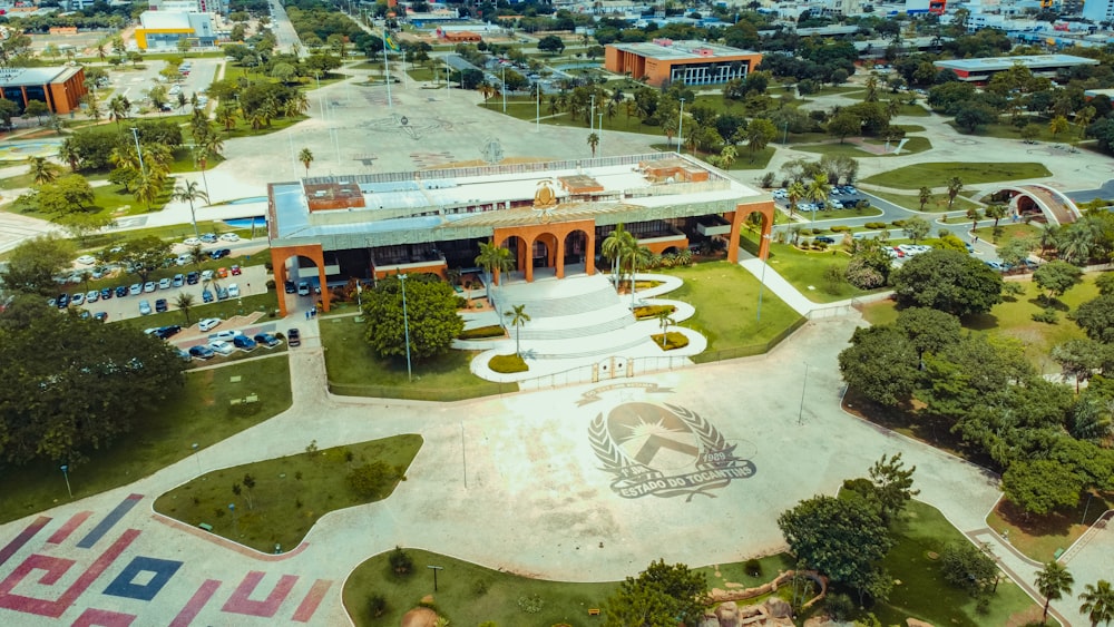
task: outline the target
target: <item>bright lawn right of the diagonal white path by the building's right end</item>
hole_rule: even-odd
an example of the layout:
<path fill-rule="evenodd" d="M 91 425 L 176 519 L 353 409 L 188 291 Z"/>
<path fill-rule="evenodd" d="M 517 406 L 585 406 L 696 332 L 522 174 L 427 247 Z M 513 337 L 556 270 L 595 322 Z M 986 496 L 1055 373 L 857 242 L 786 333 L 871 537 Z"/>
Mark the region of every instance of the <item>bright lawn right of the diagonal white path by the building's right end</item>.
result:
<path fill-rule="evenodd" d="M 859 290 L 850 283 L 841 283 L 838 286 L 829 286 L 824 280 L 824 272 L 832 265 L 847 267 L 851 258 L 843 253 L 839 242 L 842 234 L 833 235 L 837 245 L 829 246 L 828 251 L 801 251 L 789 244 L 770 244 L 770 270 L 775 271 L 785 281 L 793 284 L 793 287 L 804 295 L 805 298 L 814 303 L 833 303 L 870 294 Z M 758 254 L 758 235 L 750 231 L 743 232 L 743 247 L 752 254 Z M 765 314 L 763 313 L 763 316 Z"/>

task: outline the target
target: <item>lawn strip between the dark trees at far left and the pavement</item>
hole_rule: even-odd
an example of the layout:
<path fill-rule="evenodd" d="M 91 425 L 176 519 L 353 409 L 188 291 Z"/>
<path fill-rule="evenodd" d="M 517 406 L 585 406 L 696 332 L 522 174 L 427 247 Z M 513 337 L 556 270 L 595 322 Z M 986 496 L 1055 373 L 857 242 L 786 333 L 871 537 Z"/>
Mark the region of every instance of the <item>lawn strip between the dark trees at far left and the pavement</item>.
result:
<path fill-rule="evenodd" d="M 250 394 L 256 394 L 258 402 L 229 403 Z M 204 455 L 206 448 L 285 411 L 290 403 L 290 364 L 285 359 L 187 373 L 185 386 L 162 411 L 111 445 L 94 451 L 88 461 L 70 463 L 74 498 L 138 481 L 194 454 L 194 443 L 198 444 L 196 454 Z M 4 468 L 0 522 L 55 507 L 67 498 L 57 463 Z"/>

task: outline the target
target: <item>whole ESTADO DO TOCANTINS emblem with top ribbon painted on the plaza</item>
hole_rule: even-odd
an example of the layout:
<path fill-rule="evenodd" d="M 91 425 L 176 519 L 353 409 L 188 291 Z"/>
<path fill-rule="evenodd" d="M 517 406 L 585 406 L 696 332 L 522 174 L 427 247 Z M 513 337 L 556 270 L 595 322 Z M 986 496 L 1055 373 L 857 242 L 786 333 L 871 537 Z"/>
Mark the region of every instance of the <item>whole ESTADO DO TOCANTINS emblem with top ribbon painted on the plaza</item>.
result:
<path fill-rule="evenodd" d="M 671 391 L 655 384 L 637 386 L 646 393 Z M 580 404 L 602 400 L 602 391 L 616 388 L 588 392 Z M 712 492 L 756 471 L 754 462 L 740 457 L 739 442 L 729 442 L 696 412 L 670 403 L 619 402 L 596 414 L 588 441 L 602 470 L 614 476 L 612 490 L 626 499 L 714 498 Z"/>

